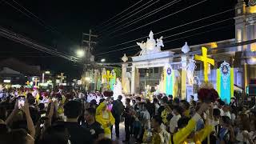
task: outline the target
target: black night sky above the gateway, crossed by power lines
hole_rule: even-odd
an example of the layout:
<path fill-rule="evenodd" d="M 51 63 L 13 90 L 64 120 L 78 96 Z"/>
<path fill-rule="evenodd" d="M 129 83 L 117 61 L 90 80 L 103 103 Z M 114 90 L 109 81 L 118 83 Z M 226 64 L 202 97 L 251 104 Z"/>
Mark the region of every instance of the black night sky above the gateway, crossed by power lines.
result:
<path fill-rule="evenodd" d="M 114 17 L 114 15 L 126 10 L 129 6 L 134 5 L 138 2 L 135 0 L 87 0 L 87 1 L 59 1 L 59 0 L 45 0 L 45 1 L 33 1 L 33 0 L 15 0 L 27 10 L 30 10 L 42 21 L 35 18 L 32 14 L 23 10 L 22 7 L 18 6 L 12 0 L 5 0 L 11 5 L 24 13 L 28 14 L 31 18 L 28 18 L 25 14 L 14 9 L 14 7 L 8 5 L 6 2 L 0 0 L 0 26 L 12 30 L 18 34 L 22 34 L 28 38 L 31 38 L 43 45 L 52 46 L 54 49 L 69 54 L 75 54 L 75 50 L 79 48 L 82 40 L 82 32 L 89 32 L 90 29 L 93 30 L 94 34 L 98 34 L 99 37 L 94 39 L 98 44 L 94 46 L 93 54 L 96 54 L 96 60 L 101 58 L 106 58 L 106 62 L 120 62 L 120 58 L 124 53 L 127 55 L 134 55 L 140 50 L 138 46 L 132 47 L 130 49 L 119 50 L 116 52 L 105 53 L 110 50 L 123 49 L 128 46 L 136 45 L 136 41 L 126 43 L 124 45 L 115 46 L 122 42 L 128 42 L 137 38 L 145 37 L 149 34 L 150 30 L 154 33 L 158 33 L 162 30 L 167 30 L 175 26 L 180 26 L 187 22 L 192 22 L 198 20 L 199 18 L 204 18 L 210 16 L 211 14 L 218 14 L 219 12 L 230 10 L 234 8 L 235 0 L 208 0 L 202 2 L 202 0 L 182 0 L 170 6 L 169 8 L 158 12 L 148 18 L 143 19 L 140 22 L 136 22 L 131 26 L 127 26 L 122 30 L 117 30 L 119 26 L 125 25 L 136 18 L 142 17 L 144 14 L 149 14 L 150 11 L 157 9 L 160 6 L 164 6 L 171 2 L 170 0 L 143 0 L 134 8 L 127 10 L 123 14 L 120 14 L 117 18 L 114 18 L 109 22 L 106 22 L 109 18 Z M 131 18 L 131 14 L 125 16 L 127 18 L 120 18 L 123 15 L 135 10 L 139 6 L 144 5 L 149 2 L 148 5 L 154 3 L 152 6 L 142 10 L 138 14 L 135 14 Z M 162 19 L 161 21 L 154 22 L 148 26 L 144 26 L 138 30 L 134 30 L 139 26 L 146 25 L 149 22 L 153 22 L 158 18 L 165 17 L 168 14 L 175 13 L 178 10 L 182 10 L 187 6 L 191 6 L 197 2 L 202 2 L 198 6 L 194 6 L 190 9 L 184 10 L 178 14 L 174 14 L 169 18 Z M 137 10 L 138 11 L 138 10 Z M 135 12 L 134 12 L 135 13 Z M 133 13 L 133 14 L 134 14 Z M 233 18 L 234 11 L 225 13 L 214 18 L 208 18 L 202 22 L 196 22 L 189 26 L 182 26 L 178 29 L 170 30 L 162 34 L 154 35 L 154 38 L 159 38 L 160 36 L 166 37 L 178 33 L 182 33 L 186 30 L 191 30 L 199 26 L 206 26 L 210 23 L 219 22 L 224 19 Z M 120 18 L 119 20 L 117 20 Z M 116 20 L 115 22 L 113 22 Z M 102 26 L 102 22 L 106 22 Z M 118 23 L 120 22 L 120 23 Z M 114 26 L 118 23 L 116 26 Z M 107 29 L 109 26 L 110 29 Z M 216 28 L 220 28 L 215 30 Z M 102 32 L 102 30 L 104 30 Z M 131 31 L 127 34 L 125 32 Z M 192 34 L 198 34 L 207 30 L 213 30 L 210 33 L 200 34 L 194 37 L 182 38 Z M 113 34 L 110 34 L 114 32 Z M 180 38 L 178 40 L 175 40 Z M 208 26 L 203 29 L 190 31 L 185 34 L 178 34 L 174 37 L 166 38 L 163 41 L 170 41 L 164 43 L 165 47 L 163 50 L 169 50 L 171 48 L 177 48 L 184 45 L 184 42 L 188 42 L 189 45 L 213 42 L 219 40 L 225 40 L 229 38 L 234 38 L 234 20 L 222 22 L 213 26 Z M 146 41 L 146 38 L 138 40 L 137 42 Z M 73 62 L 68 62 L 66 59 L 58 58 L 50 54 L 44 54 L 41 51 L 34 50 L 30 47 L 23 46 L 22 44 L 12 42 L 6 38 L 0 37 L 0 60 L 4 58 L 18 58 L 24 62 L 33 65 L 42 66 L 43 70 L 54 70 L 55 72 L 65 72 L 70 75 L 71 78 L 78 78 L 82 73 L 82 66 Z"/>

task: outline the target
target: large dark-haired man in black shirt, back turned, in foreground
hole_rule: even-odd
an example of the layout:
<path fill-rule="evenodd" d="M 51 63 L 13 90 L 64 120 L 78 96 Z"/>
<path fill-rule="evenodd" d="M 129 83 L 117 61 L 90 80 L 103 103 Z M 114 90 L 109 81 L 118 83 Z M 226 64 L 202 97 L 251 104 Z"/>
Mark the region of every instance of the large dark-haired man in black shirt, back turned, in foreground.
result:
<path fill-rule="evenodd" d="M 64 106 L 66 122 L 63 125 L 70 134 L 72 144 L 88 144 L 92 142 L 90 131 L 78 124 L 78 117 L 82 114 L 82 103 L 78 101 L 69 101 Z"/>

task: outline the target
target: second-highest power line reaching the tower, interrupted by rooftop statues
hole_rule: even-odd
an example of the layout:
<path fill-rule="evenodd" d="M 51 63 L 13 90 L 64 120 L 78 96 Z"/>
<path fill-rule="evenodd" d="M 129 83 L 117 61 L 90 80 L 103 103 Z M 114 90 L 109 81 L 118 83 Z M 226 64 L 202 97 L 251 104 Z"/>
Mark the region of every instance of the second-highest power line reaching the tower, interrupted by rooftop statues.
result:
<path fill-rule="evenodd" d="M 187 32 L 190 32 L 190 31 L 193 31 L 193 30 L 198 30 L 198 29 L 202 29 L 206 26 L 212 26 L 214 24 L 218 24 L 218 23 L 221 23 L 221 22 L 226 22 L 226 21 L 229 21 L 230 19 L 233 19 L 233 18 L 228 18 L 228 19 L 225 19 L 225 20 L 222 20 L 222 21 L 219 21 L 219 22 L 214 22 L 214 23 L 210 23 L 208 25 L 205 25 L 205 26 L 200 26 L 200 27 L 197 27 L 197 28 L 194 28 L 194 29 L 191 29 L 191 30 L 186 30 L 186 31 L 183 31 L 183 32 L 180 32 L 178 34 L 172 34 L 172 35 L 169 35 L 165 38 L 170 38 L 170 37 L 173 37 L 173 36 L 176 36 L 176 35 L 179 35 L 179 34 L 185 34 Z M 164 39 L 164 38 L 163 38 Z M 126 49 L 129 49 L 131 47 L 135 47 L 135 46 L 138 46 L 138 45 L 134 45 L 134 46 L 128 46 L 128 47 L 125 47 L 125 48 L 122 48 L 122 49 L 118 49 L 118 50 L 110 50 L 110 51 L 107 51 L 107 52 L 103 52 L 103 53 L 100 53 L 100 54 L 109 54 L 109 53 L 112 53 L 112 52 L 115 52 L 115 51 L 120 51 L 120 50 L 126 50 Z M 94 54 L 95 56 L 96 55 L 100 55 L 100 54 Z"/>

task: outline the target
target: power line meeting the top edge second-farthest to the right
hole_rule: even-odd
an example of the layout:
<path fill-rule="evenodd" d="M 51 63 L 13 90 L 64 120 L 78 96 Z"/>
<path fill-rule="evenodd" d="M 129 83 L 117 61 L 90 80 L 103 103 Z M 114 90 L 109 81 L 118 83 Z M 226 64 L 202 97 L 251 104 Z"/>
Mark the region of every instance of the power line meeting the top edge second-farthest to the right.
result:
<path fill-rule="evenodd" d="M 122 26 L 118 26 L 118 27 L 114 28 L 115 30 L 112 31 L 110 34 L 113 34 L 114 32 L 116 32 L 116 31 L 118 31 L 118 30 L 122 30 L 122 29 L 124 29 L 124 28 L 126 28 L 126 27 L 128 27 L 128 26 L 131 26 L 131 25 L 133 25 L 134 23 L 140 22 L 140 21 L 142 21 L 143 19 L 148 18 L 148 17 L 150 17 L 150 16 L 153 15 L 153 14 L 157 14 L 159 11 L 165 10 L 166 8 L 168 8 L 168 7 L 170 7 L 170 6 L 173 6 L 175 3 L 178 3 L 178 2 L 181 2 L 181 1 L 182 1 L 182 0 L 175 0 L 175 1 L 169 2 L 169 3 L 167 3 L 165 6 L 161 6 L 161 7 L 159 7 L 158 9 L 151 11 L 149 14 L 144 14 L 144 15 L 142 15 L 142 16 L 139 17 L 139 18 L 135 18 L 134 20 L 132 20 L 132 21 L 130 21 L 130 22 L 126 22 L 126 23 L 123 24 Z M 110 35 L 110 34 L 107 34 L 107 35 Z"/>

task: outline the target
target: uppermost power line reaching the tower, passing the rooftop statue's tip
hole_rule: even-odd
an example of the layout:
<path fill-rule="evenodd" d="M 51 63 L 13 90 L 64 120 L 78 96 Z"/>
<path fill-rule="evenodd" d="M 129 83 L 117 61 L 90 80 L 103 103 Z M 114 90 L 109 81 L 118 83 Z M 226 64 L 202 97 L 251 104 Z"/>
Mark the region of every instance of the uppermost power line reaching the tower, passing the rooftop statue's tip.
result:
<path fill-rule="evenodd" d="M 220 13 L 218 13 L 218 14 L 213 14 L 213 15 L 207 16 L 207 17 L 205 17 L 205 18 L 200 18 L 200 19 L 195 20 L 195 21 L 192 21 L 192 22 L 184 23 L 184 24 L 182 24 L 182 25 L 175 26 L 175 27 L 172 27 L 172 28 L 167 29 L 167 30 L 162 30 L 162 31 L 160 31 L 160 32 L 158 32 L 158 33 L 155 33 L 155 34 L 161 34 L 161 33 L 164 33 L 164 32 L 166 32 L 166 31 L 169 31 L 169 30 L 174 30 L 174 29 L 177 29 L 177 28 L 182 27 L 182 26 L 190 25 L 190 24 L 192 24 L 192 23 L 194 23 L 194 22 L 200 22 L 200 21 L 205 20 L 205 19 L 207 19 L 207 18 L 212 18 L 212 17 L 217 16 L 217 15 L 220 15 L 220 14 L 225 14 L 225 13 L 227 13 L 227 12 L 230 12 L 231 10 L 234 10 L 234 9 L 225 10 L 225 11 L 222 11 L 222 12 L 220 12 Z M 146 36 L 146 37 L 142 37 L 142 38 L 147 38 L 147 36 Z M 117 46 L 124 45 L 124 44 L 126 44 L 126 43 L 138 41 L 138 40 L 140 40 L 140 39 L 142 39 L 142 38 L 136 38 L 136 39 L 130 40 L 130 41 L 128 41 L 128 42 L 122 42 L 122 43 L 119 43 L 119 44 L 117 44 L 117 45 L 110 46 L 110 47 L 108 47 L 108 48 L 113 48 L 113 47 L 117 47 Z"/>

